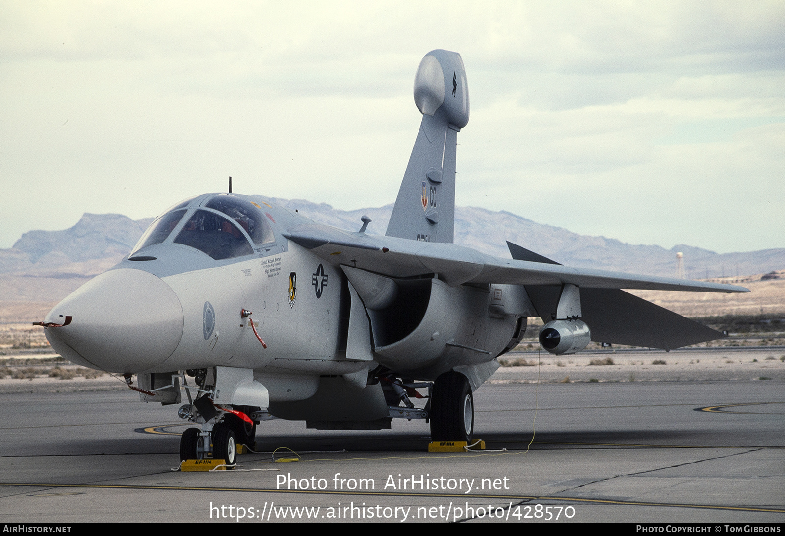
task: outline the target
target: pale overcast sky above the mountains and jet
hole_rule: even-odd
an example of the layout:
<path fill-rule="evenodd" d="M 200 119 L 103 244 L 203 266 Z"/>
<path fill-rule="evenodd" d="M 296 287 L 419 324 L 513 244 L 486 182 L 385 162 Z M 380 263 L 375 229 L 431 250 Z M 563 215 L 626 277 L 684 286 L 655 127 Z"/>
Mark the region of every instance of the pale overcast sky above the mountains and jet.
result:
<path fill-rule="evenodd" d="M 462 55 L 457 205 L 785 247 L 785 2 L 0 2 L 0 248 L 206 191 L 395 201 Z M 522 244 L 526 245 L 526 244 Z"/>

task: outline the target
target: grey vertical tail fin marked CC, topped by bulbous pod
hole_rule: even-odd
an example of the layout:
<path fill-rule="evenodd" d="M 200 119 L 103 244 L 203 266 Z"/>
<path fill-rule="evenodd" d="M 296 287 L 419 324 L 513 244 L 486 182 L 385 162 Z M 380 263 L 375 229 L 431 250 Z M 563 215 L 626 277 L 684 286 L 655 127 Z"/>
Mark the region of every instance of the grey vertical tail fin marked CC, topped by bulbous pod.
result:
<path fill-rule="evenodd" d="M 457 53 L 434 50 L 414 77 L 422 124 L 387 226 L 389 237 L 452 242 L 455 227 L 455 145 L 469 122 L 469 89 Z"/>

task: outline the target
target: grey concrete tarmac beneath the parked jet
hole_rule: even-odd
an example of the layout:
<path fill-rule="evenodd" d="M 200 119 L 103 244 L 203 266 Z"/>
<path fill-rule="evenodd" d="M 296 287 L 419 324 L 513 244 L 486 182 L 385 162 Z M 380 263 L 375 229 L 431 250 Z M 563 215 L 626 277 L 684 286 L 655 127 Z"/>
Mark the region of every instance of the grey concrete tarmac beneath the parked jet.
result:
<path fill-rule="evenodd" d="M 483 453 L 429 454 L 422 421 L 367 432 L 276 420 L 258 427 L 263 453 L 214 473 L 171 470 L 187 426 L 176 406 L 130 391 L 8 393 L 0 520 L 782 523 L 783 393 L 776 378 L 488 382 L 475 393 Z M 299 461 L 272 462 L 282 447 Z"/>

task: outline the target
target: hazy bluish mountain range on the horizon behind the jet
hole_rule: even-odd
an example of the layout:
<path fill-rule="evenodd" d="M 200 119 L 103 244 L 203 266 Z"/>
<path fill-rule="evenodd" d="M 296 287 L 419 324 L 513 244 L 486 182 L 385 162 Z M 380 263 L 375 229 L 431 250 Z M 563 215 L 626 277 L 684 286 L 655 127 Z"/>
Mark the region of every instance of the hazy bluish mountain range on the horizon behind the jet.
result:
<path fill-rule="evenodd" d="M 345 230 L 359 230 L 360 217 L 368 215 L 373 220 L 368 234 L 384 234 L 392 213 L 392 205 L 344 211 L 324 203 L 265 198 L 296 208 L 316 222 Z M 119 214 L 85 214 L 67 230 L 31 230 L 13 248 L 0 250 L 0 275 L 92 277 L 127 255 L 151 222 L 152 218 L 133 220 Z M 576 234 L 510 212 L 456 207 L 456 244 L 509 258 L 508 240 L 568 266 L 666 277 L 676 273 L 677 252 L 684 253 L 685 275 L 691 279 L 769 273 L 785 267 L 785 248 L 724 254 L 685 244 L 666 249 Z"/>

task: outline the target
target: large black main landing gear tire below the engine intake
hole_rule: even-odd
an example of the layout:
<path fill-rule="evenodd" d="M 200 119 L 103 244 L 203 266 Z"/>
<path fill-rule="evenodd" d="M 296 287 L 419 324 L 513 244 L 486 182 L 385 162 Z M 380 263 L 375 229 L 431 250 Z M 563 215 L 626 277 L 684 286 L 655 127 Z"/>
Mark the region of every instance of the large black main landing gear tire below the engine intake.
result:
<path fill-rule="evenodd" d="M 450 371 L 436 378 L 430 413 L 432 441 L 472 440 L 474 397 L 466 376 Z"/>

